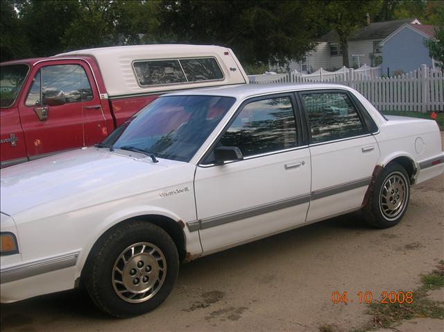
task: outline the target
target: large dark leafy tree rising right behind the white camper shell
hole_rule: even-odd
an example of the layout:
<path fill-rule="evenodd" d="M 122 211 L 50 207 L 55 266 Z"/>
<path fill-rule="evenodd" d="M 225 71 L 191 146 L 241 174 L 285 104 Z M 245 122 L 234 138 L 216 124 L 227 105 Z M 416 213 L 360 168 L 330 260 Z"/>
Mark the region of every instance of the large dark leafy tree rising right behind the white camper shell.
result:
<path fill-rule="evenodd" d="M 252 65 L 301 59 L 319 35 L 305 1 L 164 0 L 159 20 L 176 42 L 230 47 Z"/>

